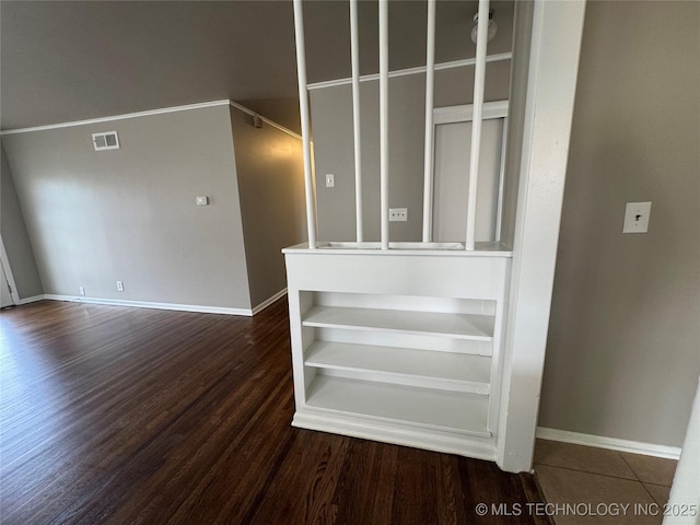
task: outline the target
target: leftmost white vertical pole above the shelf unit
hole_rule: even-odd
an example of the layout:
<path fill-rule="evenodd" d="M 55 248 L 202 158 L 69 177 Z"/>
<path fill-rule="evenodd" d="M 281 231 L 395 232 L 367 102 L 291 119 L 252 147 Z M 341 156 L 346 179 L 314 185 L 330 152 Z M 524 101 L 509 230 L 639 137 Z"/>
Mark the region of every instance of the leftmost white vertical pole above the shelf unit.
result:
<path fill-rule="evenodd" d="M 294 37 L 296 40 L 296 75 L 299 78 L 299 109 L 302 124 L 302 150 L 304 158 L 304 195 L 306 198 L 306 228 L 308 247 L 316 247 L 316 201 L 314 199 L 314 174 L 311 156 L 311 118 L 308 93 L 306 92 L 306 48 L 304 44 L 304 12 L 302 0 L 294 0 Z"/>

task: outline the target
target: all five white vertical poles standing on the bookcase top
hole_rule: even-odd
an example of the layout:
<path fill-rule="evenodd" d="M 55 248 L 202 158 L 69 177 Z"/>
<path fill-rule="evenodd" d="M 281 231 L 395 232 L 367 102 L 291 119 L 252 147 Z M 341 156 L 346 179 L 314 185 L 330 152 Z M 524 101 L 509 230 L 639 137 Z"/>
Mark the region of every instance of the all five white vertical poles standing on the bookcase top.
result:
<path fill-rule="evenodd" d="M 435 2 L 428 0 L 428 38 L 425 43 L 425 144 L 423 183 L 422 242 L 432 240 L 433 208 L 433 96 L 435 71 Z M 388 0 L 378 0 L 380 14 L 380 206 L 381 249 L 389 249 L 389 156 L 388 156 Z M 465 249 L 476 245 L 477 187 L 479 179 L 479 153 L 481 147 L 481 122 L 487 62 L 489 24 L 489 0 L 479 0 L 477 23 L 477 49 L 474 75 L 474 119 L 469 160 L 467 224 Z M 304 15 L 302 0 L 294 0 L 294 33 L 296 38 L 296 68 L 302 122 L 304 183 L 306 197 L 306 221 L 308 246 L 316 248 L 316 205 L 314 199 L 314 173 L 311 158 L 310 110 L 306 83 L 306 55 L 304 46 Z M 466 32 L 465 32 L 466 33 Z M 360 121 L 360 54 L 358 36 L 358 0 L 350 0 L 350 48 L 352 62 L 352 124 L 355 175 L 355 230 L 358 243 L 363 241 L 362 223 L 362 144 Z"/>

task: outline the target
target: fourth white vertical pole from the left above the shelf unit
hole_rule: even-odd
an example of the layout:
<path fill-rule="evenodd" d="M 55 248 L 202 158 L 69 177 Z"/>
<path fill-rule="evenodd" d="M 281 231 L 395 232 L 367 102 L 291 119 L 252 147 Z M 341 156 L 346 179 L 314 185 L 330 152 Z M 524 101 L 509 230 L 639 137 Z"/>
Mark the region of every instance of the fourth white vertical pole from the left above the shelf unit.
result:
<path fill-rule="evenodd" d="M 425 43 L 425 144 L 423 154 L 423 242 L 432 241 L 433 105 L 435 91 L 435 0 L 428 0 Z"/>

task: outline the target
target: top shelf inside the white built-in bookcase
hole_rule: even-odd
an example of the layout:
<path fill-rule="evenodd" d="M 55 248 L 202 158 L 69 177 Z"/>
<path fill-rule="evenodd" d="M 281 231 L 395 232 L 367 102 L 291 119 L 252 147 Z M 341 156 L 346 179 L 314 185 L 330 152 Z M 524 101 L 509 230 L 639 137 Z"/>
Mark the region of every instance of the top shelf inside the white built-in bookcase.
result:
<path fill-rule="evenodd" d="M 320 328 L 421 334 L 477 341 L 493 339 L 493 317 L 489 315 L 314 306 L 306 313 L 302 324 Z"/>

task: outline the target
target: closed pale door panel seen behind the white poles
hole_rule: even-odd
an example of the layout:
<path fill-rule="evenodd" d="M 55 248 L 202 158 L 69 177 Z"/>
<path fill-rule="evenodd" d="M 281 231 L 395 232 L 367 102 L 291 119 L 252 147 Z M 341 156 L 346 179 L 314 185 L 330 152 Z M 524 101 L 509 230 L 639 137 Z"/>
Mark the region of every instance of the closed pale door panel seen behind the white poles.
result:
<path fill-rule="evenodd" d="M 481 126 L 481 152 L 477 186 L 476 241 L 498 241 L 501 156 L 505 118 L 490 118 Z M 438 124 L 434 135 L 433 241 L 464 242 L 467 232 L 467 197 L 471 121 Z"/>

